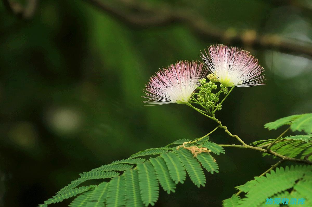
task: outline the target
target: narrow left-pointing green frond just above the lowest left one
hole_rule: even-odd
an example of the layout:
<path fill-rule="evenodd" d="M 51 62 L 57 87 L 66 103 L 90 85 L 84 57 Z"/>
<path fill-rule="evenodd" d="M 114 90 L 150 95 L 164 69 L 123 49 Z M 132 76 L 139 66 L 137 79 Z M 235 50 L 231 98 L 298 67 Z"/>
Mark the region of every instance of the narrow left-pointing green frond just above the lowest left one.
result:
<path fill-rule="evenodd" d="M 58 192 L 58 194 L 63 193 L 67 191 L 68 189 L 75 188 L 77 185 L 80 185 L 81 183 L 85 182 L 86 180 L 93 180 L 93 179 L 104 179 L 104 178 L 112 178 L 119 175 L 118 172 L 114 171 L 100 171 L 100 172 L 84 172 L 83 174 L 79 174 L 80 178 L 77 180 L 71 181 L 70 184 L 65 186 L 61 191 Z"/>

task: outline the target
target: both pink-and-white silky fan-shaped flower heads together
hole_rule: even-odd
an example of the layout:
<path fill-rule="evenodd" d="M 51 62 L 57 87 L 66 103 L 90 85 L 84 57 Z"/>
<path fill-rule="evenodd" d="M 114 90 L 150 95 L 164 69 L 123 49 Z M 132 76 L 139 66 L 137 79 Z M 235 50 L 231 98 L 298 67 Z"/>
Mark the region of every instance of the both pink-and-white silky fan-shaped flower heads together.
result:
<path fill-rule="evenodd" d="M 249 52 L 227 45 L 212 45 L 202 54 L 205 63 L 179 61 L 152 76 L 145 88 L 147 101 L 152 105 L 188 103 L 192 93 L 202 84 L 200 79 L 219 81 L 222 87 L 256 86 L 264 84 L 263 67 Z"/>

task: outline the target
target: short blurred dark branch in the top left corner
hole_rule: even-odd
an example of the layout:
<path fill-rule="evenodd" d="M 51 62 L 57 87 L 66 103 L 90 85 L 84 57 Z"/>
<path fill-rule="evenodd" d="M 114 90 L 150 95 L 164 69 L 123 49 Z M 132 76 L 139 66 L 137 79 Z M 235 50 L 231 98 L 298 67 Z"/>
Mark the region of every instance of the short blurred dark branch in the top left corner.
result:
<path fill-rule="evenodd" d="M 3 0 L 3 4 L 7 10 L 22 19 L 30 19 L 33 17 L 38 2 L 39 0 L 28 0 L 26 6 L 23 7 L 19 2 Z"/>

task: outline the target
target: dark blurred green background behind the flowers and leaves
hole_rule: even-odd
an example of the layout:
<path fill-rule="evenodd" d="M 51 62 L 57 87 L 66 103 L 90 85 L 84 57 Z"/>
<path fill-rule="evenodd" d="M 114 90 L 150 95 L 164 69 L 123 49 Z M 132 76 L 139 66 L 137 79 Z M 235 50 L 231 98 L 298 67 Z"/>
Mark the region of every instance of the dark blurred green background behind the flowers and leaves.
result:
<path fill-rule="evenodd" d="M 25 20 L 0 2 L 0 206 L 36 206 L 78 173 L 215 128 L 187 106 L 144 106 L 141 96 L 159 68 L 200 59 L 200 50 L 216 42 L 250 50 L 266 70 L 267 85 L 235 88 L 217 112 L 233 134 L 245 142 L 274 138 L 283 129 L 267 131 L 265 123 L 312 112 L 311 54 L 298 52 L 312 42 L 311 1 L 150 0 L 133 7 L 127 6 L 132 1 L 103 2 L 135 15 L 138 5 L 153 10 L 165 4 L 230 34 L 277 34 L 298 44 L 286 51 L 248 38 L 207 36 L 183 19 L 135 26 L 88 0 L 40 1 Z M 221 130 L 211 140 L 236 143 Z M 228 148 L 216 159 L 220 173 L 206 173 L 206 187 L 188 178 L 175 194 L 161 191 L 156 206 L 221 206 L 237 192 L 234 186 L 276 162 Z"/>

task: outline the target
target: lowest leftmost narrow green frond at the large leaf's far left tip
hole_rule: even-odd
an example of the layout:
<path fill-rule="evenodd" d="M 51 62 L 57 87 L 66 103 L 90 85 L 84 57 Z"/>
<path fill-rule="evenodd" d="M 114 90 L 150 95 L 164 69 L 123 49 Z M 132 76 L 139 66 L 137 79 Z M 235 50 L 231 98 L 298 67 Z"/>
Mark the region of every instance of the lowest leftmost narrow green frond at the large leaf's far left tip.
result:
<path fill-rule="evenodd" d="M 90 186 L 82 186 L 79 188 L 69 189 L 68 191 L 64 193 L 60 193 L 58 195 L 52 196 L 52 198 L 45 201 L 44 204 L 58 203 L 58 202 L 63 201 L 64 199 L 68 199 L 80 193 L 86 192 L 90 189 L 94 189 L 95 187 L 96 185 L 90 185 Z"/>

